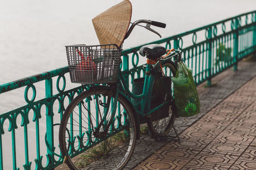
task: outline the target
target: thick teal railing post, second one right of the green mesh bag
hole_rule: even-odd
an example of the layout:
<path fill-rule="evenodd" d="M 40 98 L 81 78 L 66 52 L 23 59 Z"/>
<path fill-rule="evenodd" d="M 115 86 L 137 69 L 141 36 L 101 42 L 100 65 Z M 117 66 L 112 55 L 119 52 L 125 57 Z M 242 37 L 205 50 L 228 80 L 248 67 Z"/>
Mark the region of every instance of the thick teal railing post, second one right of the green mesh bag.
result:
<path fill-rule="evenodd" d="M 238 26 L 239 26 L 239 20 L 238 18 L 235 19 L 235 32 L 234 32 L 234 55 L 233 55 L 233 61 L 234 61 L 234 71 L 237 71 L 237 63 L 238 63 L 238 36 L 239 36 L 239 31 L 238 31 Z"/>

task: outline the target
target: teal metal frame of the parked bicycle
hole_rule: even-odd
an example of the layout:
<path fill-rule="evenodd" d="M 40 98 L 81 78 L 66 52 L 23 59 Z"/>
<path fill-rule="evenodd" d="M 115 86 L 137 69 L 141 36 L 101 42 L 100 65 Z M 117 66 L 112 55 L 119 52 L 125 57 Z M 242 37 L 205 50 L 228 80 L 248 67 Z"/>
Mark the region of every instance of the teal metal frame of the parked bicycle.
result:
<path fill-rule="evenodd" d="M 161 62 L 161 64 L 164 64 L 166 62 L 171 62 L 173 64 L 174 67 L 176 67 L 177 62 L 172 62 L 172 58 L 174 57 L 175 60 L 177 60 L 177 55 L 178 53 L 180 53 L 179 50 L 175 50 L 174 53 L 170 53 L 170 55 L 166 56 L 163 60 L 160 60 L 159 62 Z M 106 125 L 106 115 L 108 114 L 109 108 L 111 108 L 111 118 L 108 122 L 108 124 L 106 125 L 106 130 L 109 129 L 109 127 L 111 126 L 111 122 L 113 122 L 113 119 L 115 118 L 115 113 L 116 110 L 118 108 L 118 103 L 117 103 L 117 99 L 118 99 L 118 95 L 122 95 L 124 96 L 127 101 L 129 101 L 129 103 L 132 105 L 132 107 L 134 108 L 134 111 L 136 113 L 134 113 L 134 116 L 136 117 L 136 119 L 138 120 L 138 125 L 141 124 L 141 122 L 143 122 L 143 120 L 145 120 L 145 118 L 147 118 L 149 115 L 151 115 L 152 113 L 154 113 L 157 110 L 160 110 L 163 106 L 165 106 L 166 104 L 168 104 L 170 101 L 168 100 L 164 100 L 163 103 L 159 104 L 158 106 L 156 106 L 155 108 L 150 108 L 150 100 L 152 97 L 152 90 L 153 90 L 153 85 L 154 85 L 154 80 L 156 79 L 156 76 L 158 76 L 161 73 L 161 69 L 160 69 L 160 64 L 159 62 L 157 62 L 156 66 L 152 66 L 151 64 L 146 64 L 146 74 L 145 74 L 145 80 L 144 80 L 144 85 L 143 85 L 143 91 L 141 94 L 133 94 L 130 90 L 129 90 L 129 86 L 127 85 L 127 82 L 125 81 L 124 78 L 124 74 L 122 73 L 121 69 L 119 69 L 118 71 L 118 81 L 117 83 L 111 84 L 110 85 L 110 89 L 113 91 L 113 101 L 106 101 L 106 109 L 104 110 L 104 117 L 102 117 L 102 120 L 100 121 L 100 124 L 97 125 L 97 129 L 99 130 L 100 127 L 105 124 Z M 161 80 L 161 79 L 159 79 Z M 164 82 L 161 80 L 161 83 Z M 164 94 L 168 94 L 168 90 L 166 88 L 166 85 L 164 85 L 164 89 L 165 91 Z M 172 95 L 172 94 L 168 94 L 168 95 Z M 141 99 L 141 104 L 140 104 L 140 110 L 134 106 L 134 104 L 131 101 L 131 98 L 134 99 Z M 97 129 L 95 131 L 97 131 Z"/>

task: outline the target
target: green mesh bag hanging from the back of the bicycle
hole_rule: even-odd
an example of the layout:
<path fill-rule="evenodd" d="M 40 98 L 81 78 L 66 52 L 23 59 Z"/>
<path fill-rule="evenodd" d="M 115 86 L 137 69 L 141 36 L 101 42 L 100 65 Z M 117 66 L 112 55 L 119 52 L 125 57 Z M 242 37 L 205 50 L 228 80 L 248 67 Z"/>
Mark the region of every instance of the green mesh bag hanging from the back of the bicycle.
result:
<path fill-rule="evenodd" d="M 190 117 L 200 112 L 200 101 L 191 70 L 182 62 L 172 78 L 174 101 L 180 117 Z"/>

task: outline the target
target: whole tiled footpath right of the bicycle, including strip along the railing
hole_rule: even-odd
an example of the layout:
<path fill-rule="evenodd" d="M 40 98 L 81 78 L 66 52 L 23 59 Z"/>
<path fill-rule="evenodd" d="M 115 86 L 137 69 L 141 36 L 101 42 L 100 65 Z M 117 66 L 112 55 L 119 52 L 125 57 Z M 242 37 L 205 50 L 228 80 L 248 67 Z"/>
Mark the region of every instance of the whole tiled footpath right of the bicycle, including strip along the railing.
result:
<path fill-rule="evenodd" d="M 142 136 L 127 169 L 256 169 L 255 64 L 240 62 L 214 87 L 199 87 L 200 113 L 175 122 L 180 141 Z"/>

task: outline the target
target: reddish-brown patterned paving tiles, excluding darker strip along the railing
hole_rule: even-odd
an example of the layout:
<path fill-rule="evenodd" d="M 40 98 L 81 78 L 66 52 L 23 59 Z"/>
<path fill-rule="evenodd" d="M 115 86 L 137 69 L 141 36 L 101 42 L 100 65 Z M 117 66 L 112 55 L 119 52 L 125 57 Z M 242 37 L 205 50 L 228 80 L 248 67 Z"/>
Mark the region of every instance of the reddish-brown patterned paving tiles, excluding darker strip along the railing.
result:
<path fill-rule="evenodd" d="M 196 122 L 178 118 L 175 125 L 179 126 L 180 141 L 168 141 L 134 169 L 256 169 L 256 77 L 253 77 L 228 96 L 222 92 L 212 95 L 224 96 L 219 103 L 211 102 L 212 98 L 208 103 L 201 102 L 202 110 L 207 110 L 209 103 L 217 104 L 208 108 L 206 114 L 196 115 Z M 225 81 L 229 80 L 224 80 L 224 84 Z M 204 95 L 207 92 L 200 97 Z"/>

